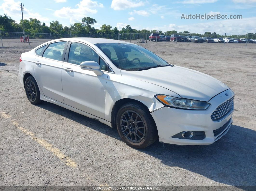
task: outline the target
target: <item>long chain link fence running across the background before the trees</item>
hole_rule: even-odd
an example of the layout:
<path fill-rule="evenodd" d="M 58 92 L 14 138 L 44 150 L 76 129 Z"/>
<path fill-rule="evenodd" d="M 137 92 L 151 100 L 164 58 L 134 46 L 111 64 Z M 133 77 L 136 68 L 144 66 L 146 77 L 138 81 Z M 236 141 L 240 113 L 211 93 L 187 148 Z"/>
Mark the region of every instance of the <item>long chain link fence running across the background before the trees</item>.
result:
<path fill-rule="evenodd" d="M 22 32 L 6 32 L 0 31 L 0 47 L 36 47 L 44 42 L 70 37 L 91 37 L 91 38 L 105 38 L 105 39 L 115 39 L 123 40 L 127 42 L 137 43 L 138 39 L 144 39 L 145 43 L 168 43 L 172 44 L 194 44 L 191 41 L 192 36 L 199 36 L 204 38 L 203 42 L 197 43 L 200 46 L 223 46 L 230 48 L 256 48 L 256 34 L 200 34 L 200 33 L 158 33 L 158 41 L 149 41 L 149 36 L 151 33 L 117 33 L 117 34 L 55 34 L 55 33 L 24 33 Z M 161 38 L 160 36 L 165 36 L 167 38 Z M 175 38 L 171 38 L 174 36 Z M 181 36 L 177 38 L 177 36 Z M 212 40 L 208 40 L 208 39 Z M 230 38 L 224 41 L 218 41 L 216 38 Z M 234 40 L 233 43 L 231 40 Z M 239 40 L 243 39 L 243 40 Z M 227 43 L 228 42 L 228 43 Z"/>

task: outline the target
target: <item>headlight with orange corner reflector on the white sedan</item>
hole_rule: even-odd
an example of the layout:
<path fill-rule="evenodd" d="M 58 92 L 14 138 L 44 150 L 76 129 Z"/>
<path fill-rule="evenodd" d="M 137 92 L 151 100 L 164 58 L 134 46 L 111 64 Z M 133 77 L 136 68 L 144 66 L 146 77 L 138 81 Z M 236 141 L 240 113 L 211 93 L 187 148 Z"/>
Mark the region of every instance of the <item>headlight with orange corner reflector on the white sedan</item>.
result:
<path fill-rule="evenodd" d="M 205 101 L 197 101 L 193 99 L 178 98 L 162 94 L 155 95 L 155 97 L 165 106 L 180 109 L 205 110 L 210 106 L 210 104 Z"/>

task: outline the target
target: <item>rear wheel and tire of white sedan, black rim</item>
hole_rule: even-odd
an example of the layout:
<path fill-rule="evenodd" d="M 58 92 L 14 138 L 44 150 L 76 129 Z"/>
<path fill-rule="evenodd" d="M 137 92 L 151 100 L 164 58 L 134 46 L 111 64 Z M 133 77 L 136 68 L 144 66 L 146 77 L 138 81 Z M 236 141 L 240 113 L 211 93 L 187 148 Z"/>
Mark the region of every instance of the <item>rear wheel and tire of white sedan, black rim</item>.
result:
<path fill-rule="evenodd" d="M 31 104 L 36 105 L 42 103 L 42 100 L 40 100 L 40 91 L 38 85 L 35 78 L 32 76 L 29 76 L 25 81 L 25 92 Z"/>

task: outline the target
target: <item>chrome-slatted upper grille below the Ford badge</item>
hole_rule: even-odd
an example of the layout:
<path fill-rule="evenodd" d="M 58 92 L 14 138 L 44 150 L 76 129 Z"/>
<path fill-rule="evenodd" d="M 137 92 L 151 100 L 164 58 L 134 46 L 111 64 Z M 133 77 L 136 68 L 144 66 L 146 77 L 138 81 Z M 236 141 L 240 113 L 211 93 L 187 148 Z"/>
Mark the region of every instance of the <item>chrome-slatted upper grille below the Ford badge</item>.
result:
<path fill-rule="evenodd" d="M 211 119 L 214 122 L 221 121 L 227 117 L 234 109 L 234 97 L 225 101 L 223 104 L 219 105 L 216 110 L 211 114 Z"/>

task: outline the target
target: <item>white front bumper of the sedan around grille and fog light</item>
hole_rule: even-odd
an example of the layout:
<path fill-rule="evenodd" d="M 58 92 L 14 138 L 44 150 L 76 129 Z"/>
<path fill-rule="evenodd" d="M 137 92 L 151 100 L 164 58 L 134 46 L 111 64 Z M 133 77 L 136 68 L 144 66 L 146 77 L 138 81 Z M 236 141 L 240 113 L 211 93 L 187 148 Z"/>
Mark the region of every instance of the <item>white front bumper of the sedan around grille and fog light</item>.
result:
<path fill-rule="evenodd" d="M 225 95 L 226 93 L 228 96 Z M 233 122 L 233 111 L 226 118 L 218 122 L 212 121 L 211 114 L 220 104 L 233 96 L 234 93 L 232 90 L 228 89 L 208 101 L 211 104 L 209 108 L 201 111 L 163 107 L 151 112 L 157 126 L 159 141 L 177 145 L 210 145 L 214 143 L 229 130 Z M 221 131 L 214 136 L 214 130 L 222 126 L 224 127 Z M 202 140 L 193 140 L 172 137 L 183 131 L 204 131 L 205 138 Z"/>

